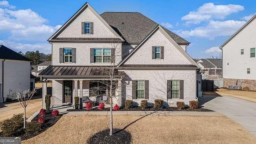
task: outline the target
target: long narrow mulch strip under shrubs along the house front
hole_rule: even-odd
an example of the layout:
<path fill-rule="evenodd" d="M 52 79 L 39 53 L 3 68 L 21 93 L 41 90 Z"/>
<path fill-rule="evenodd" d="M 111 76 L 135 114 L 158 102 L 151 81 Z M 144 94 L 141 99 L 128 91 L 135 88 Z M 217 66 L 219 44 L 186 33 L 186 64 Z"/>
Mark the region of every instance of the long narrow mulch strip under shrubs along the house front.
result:
<path fill-rule="evenodd" d="M 104 108 L 103 110 L 99 110 L 98 108 L 92 108 L 91 110 L 86 110 L 84 109 L 80 109 L 80 110 L 76 110 L 76 109 L 69 109 L 67 111 L 109 111 L 110 108 Z M 177 107 L 165 107 L 165 108 L 161 108 L 161 109 L 157 109 L 154 107 L 148 107 L 145 109 L 142 109 L 140 106 L 137 107 L 132 107 L 132 108 L 123 108 L 120 107 L 118 111 L 191 111 L 191 112 L 213 112 L 212 110 L 208 110 L 205 108 L 197 108 L 197 109 L 191 109 L 189 107 L 186 107 L 182 110 L 179 110 Z"/>

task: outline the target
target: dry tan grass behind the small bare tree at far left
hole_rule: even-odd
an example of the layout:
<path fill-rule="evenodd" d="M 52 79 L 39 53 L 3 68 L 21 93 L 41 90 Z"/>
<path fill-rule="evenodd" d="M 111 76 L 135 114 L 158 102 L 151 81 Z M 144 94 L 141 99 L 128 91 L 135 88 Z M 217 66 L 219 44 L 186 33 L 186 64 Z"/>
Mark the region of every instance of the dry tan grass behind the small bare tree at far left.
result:
<path fill-rule="evenodd" d="M 13 114 L 23 113 L 23 108 L 19 102 L 4 104 L 5 107 L 0 108 L 0 122 L 8 118 L 12 118 Z M 42 99 L 30 100 L 26 108 L 26 117 L 29 118 L 36 111 L 42 108 Z"/>

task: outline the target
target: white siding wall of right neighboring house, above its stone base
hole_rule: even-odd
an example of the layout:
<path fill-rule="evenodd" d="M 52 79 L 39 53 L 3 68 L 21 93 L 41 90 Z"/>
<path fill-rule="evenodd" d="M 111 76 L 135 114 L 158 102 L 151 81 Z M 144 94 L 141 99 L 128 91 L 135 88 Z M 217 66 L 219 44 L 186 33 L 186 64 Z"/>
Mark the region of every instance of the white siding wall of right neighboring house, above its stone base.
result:
<path fill-rule="evenodd" d="M 223 46 L 223 78 L 256 80 L 256 57 L 250 58 L 250 48 L 256 48 L 256 19 Z"/>

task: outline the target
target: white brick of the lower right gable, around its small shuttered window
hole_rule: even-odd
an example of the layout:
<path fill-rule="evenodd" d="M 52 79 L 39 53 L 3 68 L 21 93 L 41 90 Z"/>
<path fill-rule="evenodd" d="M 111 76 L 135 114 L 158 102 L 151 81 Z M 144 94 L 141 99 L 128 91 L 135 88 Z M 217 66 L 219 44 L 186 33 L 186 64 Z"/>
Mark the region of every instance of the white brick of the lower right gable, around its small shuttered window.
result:
<path fill-rule="evenodd" d="M 152 59 L 152 46 L 164 46 L 164 59 Z M 191 64 L 191 62 L 160 32 L 146 41 L 125 64 Z"/>

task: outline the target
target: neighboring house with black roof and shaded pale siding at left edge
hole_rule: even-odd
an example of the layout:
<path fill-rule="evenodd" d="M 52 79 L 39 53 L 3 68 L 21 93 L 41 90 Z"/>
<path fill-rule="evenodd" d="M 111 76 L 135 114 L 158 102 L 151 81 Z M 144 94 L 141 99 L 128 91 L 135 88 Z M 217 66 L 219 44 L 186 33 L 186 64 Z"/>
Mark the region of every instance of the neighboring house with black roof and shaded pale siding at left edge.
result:
<path fill-rule="evenodd" d="M 30 62 L 28 58 L 0 45 L 0 102 L 16 99 L 13 92 L 30 89 Z"/>

